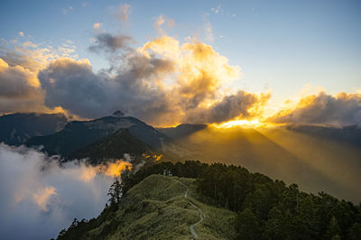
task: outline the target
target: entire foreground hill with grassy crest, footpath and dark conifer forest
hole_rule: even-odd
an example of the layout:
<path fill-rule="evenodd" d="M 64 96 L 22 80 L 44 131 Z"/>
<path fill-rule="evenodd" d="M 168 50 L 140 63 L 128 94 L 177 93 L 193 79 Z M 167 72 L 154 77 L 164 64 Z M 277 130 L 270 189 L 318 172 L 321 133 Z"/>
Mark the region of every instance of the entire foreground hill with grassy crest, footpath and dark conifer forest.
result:
<path fill-rule="evenodd" d="M 162 176 L 164 170 L 173 177 Z M 59 239 L 358 240 L 361 235 L 361 205 L 221 163 L 155 162 L 123 174 L 109 193 L 110 205 L 99 217 L 75 220 Z"/>

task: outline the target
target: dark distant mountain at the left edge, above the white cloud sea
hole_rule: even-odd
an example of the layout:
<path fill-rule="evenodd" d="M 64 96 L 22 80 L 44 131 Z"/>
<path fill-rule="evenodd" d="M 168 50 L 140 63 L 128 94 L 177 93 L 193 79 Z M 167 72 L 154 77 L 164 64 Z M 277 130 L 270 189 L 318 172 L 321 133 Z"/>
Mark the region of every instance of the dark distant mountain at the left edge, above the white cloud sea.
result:
<path fill-rule="evenodd" d="M 67 124 L 62 114 L 11 114 L 0 116 L 0 142 L 20 145 L 33 136 L 54 134 Z"/>

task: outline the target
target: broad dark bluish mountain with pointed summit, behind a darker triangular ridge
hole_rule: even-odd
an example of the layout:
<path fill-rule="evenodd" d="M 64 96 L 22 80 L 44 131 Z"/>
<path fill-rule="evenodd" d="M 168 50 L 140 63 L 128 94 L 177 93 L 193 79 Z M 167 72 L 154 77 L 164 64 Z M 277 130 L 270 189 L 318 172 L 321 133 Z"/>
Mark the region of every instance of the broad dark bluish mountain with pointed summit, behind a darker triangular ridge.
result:
<path fill-rule="evenodd" d="M 119 129 L 127 129 L 128 133 L 126 137 L 128 137 L 128 139 L 129 134 L 132 134 L 139 141 L 143 142 L 143 144 L 148 145 L 154 150 L 162 150 L 163 143 L 169 139 L 166 135 L 155 130 L 153 126 L 146 125 L 137 118 L 132 116 L 119 117 L 111 115 L 92 121 L 71 122 L 65 125 L 64 129 L 58 133 L 32 137 L 26 142 L 26 145 L 42 145 L 44 147 L 43 151 L 51 155 L 60 154 L 64 157 L 69 157 L 72 152 L 80 151 L 80 149 L 83 148 L 80 152 L 74 154 L 84 156 L 85 152 L 89 152 L 87 150 L 90 148 L 90 146 L 88 146 L 89 144 L 95 143 L 97 140 L 109 134 L 114 134 Z M 119 134 L 125 133 L 122 132 L 116 135 L 119 136 Z M 108 140 L 113 139 L 116 135 L 110 136 Z M 132 138 L 131 141 L 134 142 L 134 139 Z M 104 146 L 105 140 L 99 143 Z M 106 144 L 109 145 L 108 143 Z M 128 146 L 129 144 L 130 143 L 128 143 Z M 94 145 L 91 146 L 94 147 Z M 94 152 L 91 154 L 94 154 Z"/>

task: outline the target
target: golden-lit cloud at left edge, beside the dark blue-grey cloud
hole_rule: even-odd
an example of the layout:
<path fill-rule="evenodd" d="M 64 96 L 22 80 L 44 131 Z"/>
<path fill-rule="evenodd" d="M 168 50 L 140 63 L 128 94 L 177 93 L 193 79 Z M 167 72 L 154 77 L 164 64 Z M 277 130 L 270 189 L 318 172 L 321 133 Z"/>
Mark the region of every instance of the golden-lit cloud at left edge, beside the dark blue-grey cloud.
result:
<path fill-rule="evenodd" d="M 73 42 L 59 47 L 33 42 L 17 42 L 14 50 L 0 48 L 0 114 L 14 112 L 66 113 L 62 108 L 44 106 L 45 92 L 38 73 L 51 60 L 77 58 Z"/>

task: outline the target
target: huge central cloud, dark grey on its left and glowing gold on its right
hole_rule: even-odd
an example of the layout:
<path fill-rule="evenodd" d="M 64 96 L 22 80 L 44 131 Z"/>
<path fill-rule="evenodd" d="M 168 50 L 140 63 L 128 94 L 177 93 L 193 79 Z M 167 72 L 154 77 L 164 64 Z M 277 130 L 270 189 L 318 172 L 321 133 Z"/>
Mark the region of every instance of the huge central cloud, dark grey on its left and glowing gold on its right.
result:
<path fill-rule="evenodd" d="M 46 106 L 84 117 L 122 109 L 149 124 L 174 125 L 189 120 L 188 111 L 217 102 L 221 88 L 241 76 L 239 67 L 201 42 L 180 44 L 163 35 L 132 49 L 125 48 L 125 36 L 102 33 L 97 39 L 97 52 L 112 55 L 111 68 L 96 73 L 87 62 L 51 62 L 39 73 Z"/>

